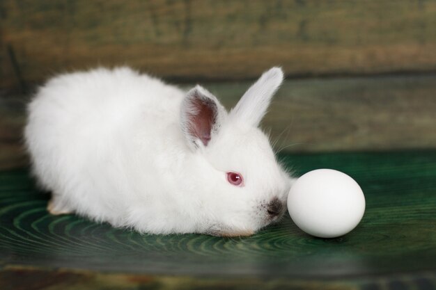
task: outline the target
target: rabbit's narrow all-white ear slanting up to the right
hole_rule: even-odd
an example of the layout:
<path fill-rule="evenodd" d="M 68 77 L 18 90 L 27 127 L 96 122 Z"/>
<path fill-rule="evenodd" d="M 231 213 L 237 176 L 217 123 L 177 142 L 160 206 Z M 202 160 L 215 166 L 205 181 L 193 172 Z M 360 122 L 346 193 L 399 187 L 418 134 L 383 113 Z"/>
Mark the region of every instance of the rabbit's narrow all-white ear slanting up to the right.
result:
<path fill-rule="evenodd" d="M 283 72 L 280 67 L 272 67 L 264 72 L 233 108 L 231 118 L 237 118 L 257 127 L 270 105 L 272 95 L 282 81 Z"/>

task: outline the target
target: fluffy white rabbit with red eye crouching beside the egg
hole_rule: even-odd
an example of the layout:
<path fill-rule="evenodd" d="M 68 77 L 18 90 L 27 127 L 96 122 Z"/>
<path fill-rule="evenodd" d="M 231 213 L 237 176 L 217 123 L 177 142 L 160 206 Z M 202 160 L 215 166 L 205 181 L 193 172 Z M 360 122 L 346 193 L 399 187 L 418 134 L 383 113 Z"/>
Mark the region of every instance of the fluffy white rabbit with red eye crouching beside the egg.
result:
<path fill-rule="evenodd" d="M 293 182 L 258 124 L 273 67 L 230 113 L 127 67 L 56 76 L 29 104 L 26 147 L 52 214 L 150 234 L 246 236 L 286 211 Z"/>

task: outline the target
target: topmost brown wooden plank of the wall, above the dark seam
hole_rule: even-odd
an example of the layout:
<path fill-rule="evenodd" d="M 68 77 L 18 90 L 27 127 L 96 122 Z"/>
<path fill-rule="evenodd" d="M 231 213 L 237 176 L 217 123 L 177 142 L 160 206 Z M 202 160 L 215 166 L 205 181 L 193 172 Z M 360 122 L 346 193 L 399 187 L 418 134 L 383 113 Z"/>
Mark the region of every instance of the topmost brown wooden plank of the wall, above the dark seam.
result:
<path fill-rule="evenodd" d="M 436 69 L 436 2 L 0 2 L 0 88 L 127 64 L 172 79 Z"/>

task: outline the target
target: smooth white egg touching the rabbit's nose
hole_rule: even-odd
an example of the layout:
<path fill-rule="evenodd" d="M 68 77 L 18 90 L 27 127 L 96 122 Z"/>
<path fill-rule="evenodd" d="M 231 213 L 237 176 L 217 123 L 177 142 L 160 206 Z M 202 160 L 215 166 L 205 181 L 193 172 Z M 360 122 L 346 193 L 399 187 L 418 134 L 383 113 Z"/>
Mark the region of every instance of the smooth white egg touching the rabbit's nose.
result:
<path fill-rule="evenodd" d="M 288 211 L 304 232 L 334 238 L 359 224 L 365 197 L 359 184 L 345 173 L 318 169 L 299 177 L 290 188 Z"/>

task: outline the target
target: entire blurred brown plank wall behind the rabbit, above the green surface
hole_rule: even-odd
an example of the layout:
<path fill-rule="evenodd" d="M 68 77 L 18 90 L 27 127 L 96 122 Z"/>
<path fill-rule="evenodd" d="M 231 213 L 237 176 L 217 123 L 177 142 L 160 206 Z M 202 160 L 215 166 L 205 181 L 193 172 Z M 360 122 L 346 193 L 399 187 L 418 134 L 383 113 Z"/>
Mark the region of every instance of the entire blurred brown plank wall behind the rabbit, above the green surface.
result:
<path fill-rule="evenodd" d="M 291 151 L 436 147 L 436 1 L 0 1 L 0 168 L 23 166 L 24 105 L 59 72 L 130 65 L 227 106 L 288 81 L 263 122 Z"/>

